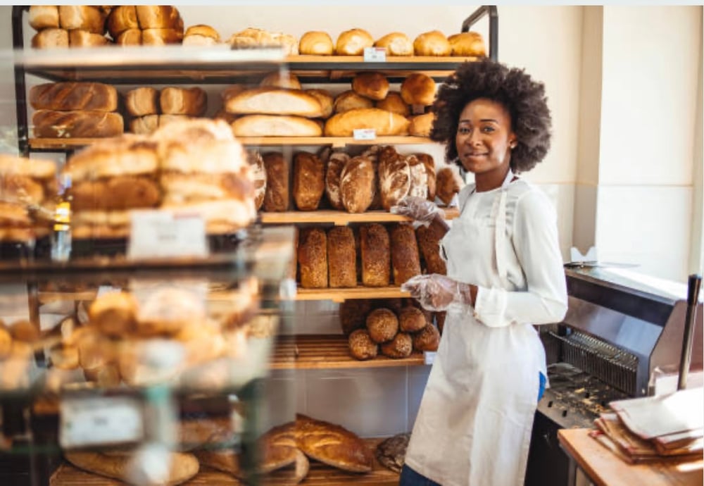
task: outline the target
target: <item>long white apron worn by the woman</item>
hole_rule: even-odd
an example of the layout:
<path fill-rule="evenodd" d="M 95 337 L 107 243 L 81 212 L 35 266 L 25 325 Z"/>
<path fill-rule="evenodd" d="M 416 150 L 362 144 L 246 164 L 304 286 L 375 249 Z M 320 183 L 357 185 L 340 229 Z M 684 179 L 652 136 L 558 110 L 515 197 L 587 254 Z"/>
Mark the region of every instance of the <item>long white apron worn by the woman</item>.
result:
<path fill-rule="evenodd" d="M 470 196 L 460 199 L 460 216 L 442 241 L 449 277 L 508 291 L 525 285 L 506 235 L 506 205 L 510 185 L 529 186 L 512 178 L 509 171 L 502 187 L 488 192 L 465 188 Z M 489 327 L 472 308 L 448 311 L 408 466 L 444 486 L 522 485 L 541 370 L 544 350 L 529 323 Z"/>

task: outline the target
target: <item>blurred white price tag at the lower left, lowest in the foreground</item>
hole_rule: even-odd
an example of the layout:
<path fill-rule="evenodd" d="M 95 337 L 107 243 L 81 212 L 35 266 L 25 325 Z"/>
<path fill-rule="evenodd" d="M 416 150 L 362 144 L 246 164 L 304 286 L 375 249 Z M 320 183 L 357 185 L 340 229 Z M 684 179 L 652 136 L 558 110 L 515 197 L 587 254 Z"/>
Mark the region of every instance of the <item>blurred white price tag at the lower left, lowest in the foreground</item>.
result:
<path fill-rule="evenodd" d="M 139 442 L 144 421 L 132 397 L 80 397 L 61 401 L 58 440 L 61 447 Z"/>

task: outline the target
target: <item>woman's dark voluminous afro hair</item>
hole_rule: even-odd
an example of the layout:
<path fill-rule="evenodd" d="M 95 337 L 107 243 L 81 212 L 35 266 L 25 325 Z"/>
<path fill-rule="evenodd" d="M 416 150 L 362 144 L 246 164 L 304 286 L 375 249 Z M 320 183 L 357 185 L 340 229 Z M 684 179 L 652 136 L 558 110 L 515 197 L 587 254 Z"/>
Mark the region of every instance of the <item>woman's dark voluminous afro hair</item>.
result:
<path fill-rule="evenodd" d="M 435 113 L 430 138 L 444 142 L 448 161 L 457 161 L 455 135 L 460 113 L 478 98 L 501 103 L 511 118 L 517 146 L 511 152 L 511 169 L 526 172 L 543 160 L 550 148 L 551 117 L 543 83 L 522 69 L 509 69 L 485 59 L 464 63 L 441 85 L 432 106 Z"/>

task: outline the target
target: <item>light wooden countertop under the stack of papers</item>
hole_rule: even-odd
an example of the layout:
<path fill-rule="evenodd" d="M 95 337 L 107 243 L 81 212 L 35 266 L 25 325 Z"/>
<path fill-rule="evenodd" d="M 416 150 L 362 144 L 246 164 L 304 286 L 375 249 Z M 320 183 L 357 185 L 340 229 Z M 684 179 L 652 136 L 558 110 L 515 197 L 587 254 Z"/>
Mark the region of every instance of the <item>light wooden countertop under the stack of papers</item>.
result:
<path fill-rule="evenodd" d="M 597 486 L 701 486 L 704 482 L 704 459 L 628 464 L 589 437 L 589 429 L 558 430 L 558 440 Z"/>

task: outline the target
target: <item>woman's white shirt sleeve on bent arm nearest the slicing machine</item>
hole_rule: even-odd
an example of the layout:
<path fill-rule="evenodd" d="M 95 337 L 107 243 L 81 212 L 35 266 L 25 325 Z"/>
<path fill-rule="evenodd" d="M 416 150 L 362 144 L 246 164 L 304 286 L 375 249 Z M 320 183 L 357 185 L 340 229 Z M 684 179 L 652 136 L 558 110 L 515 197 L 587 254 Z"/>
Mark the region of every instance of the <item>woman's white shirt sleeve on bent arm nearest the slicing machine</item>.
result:
<path fill-rule="evenodd" d="M 567 284 L 555 208 L 541 192 L 529 191 L 516 203 L 513 227 L 513 247 L 527 288 L 478 287 L 474 317 L 492 328 L 560 322 L 567 313 Z"/>

